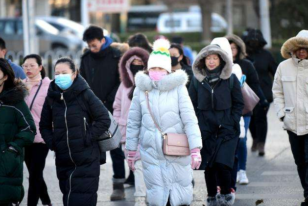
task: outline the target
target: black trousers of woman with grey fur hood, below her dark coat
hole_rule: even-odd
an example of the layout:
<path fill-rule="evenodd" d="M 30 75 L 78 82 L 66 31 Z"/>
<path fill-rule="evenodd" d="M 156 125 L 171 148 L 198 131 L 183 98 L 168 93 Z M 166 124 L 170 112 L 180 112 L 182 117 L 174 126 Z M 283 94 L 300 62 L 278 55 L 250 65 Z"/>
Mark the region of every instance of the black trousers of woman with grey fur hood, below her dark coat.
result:
<path fill-rule="evenodd" d="M 217 162 L 214 163 L 213 167 L 205 168 L 204 177 L 209 197 L 215 197 L 217 194 L 217 185 L 220 186 L 220 194 L 230 194 L 231 172 L 232 168 Z"/>

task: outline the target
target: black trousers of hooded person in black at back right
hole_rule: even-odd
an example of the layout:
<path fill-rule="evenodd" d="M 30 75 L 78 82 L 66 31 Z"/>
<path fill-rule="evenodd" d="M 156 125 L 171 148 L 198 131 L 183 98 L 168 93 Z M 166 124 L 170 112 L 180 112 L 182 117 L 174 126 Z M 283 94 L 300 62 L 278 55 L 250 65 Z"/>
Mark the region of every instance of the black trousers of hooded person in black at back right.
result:
<path fill-rule="evenodd" d="M 252 138 L 260 143 L 265 143 L 267 134 L 267 112 L 268 108 L 264 110 L 259 104 L 254 108 L 251 116 L 249 129 Z"/>

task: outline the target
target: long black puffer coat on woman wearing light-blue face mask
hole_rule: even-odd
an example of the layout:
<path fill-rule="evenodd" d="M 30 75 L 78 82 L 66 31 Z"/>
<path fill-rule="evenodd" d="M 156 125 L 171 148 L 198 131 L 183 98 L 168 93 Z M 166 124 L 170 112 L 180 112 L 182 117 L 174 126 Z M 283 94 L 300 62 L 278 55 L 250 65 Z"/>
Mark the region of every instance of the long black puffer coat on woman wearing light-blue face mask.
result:
<path fill-rule="evenodd" d="M 86 104 L 91 111 L 86 111 Z M 55 151 L 64 206 L 96 205 L 100 153 L 95 138 L 109 126 L 107 109 L 81 76 L 64 93 L 54 80 L 50 83 L 40 132 Z"/>

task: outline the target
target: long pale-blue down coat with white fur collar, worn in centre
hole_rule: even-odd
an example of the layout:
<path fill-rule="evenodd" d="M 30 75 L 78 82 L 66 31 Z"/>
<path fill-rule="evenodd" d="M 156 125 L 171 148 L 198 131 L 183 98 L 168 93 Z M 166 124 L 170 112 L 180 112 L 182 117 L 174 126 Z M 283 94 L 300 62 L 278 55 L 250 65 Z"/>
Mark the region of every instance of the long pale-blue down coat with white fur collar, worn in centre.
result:
<path fill-rule="evenodd" d="M 128 113 L 126 149 L 136 151 L 140 142 L 146 195 L 150 206 L 190 205 L 192 170 L 190 156 L 163 154 L 162 134 L 147 109 L 145 91 L 155 120 L 163 132 L 186 133 L 190 149 L 202 148 L 201 133 L 182 70 L 154 83 L 143 72 L 136 74 L 136 89 Z"/>

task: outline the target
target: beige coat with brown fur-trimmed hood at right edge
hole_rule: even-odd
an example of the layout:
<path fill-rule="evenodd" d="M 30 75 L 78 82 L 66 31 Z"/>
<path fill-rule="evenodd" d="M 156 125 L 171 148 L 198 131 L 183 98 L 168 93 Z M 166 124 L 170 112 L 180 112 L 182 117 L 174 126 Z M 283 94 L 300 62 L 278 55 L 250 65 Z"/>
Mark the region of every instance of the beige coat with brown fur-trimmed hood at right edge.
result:
<path fill-rule="evenodd" d="M 273 95 L 277 117 L 284 117 L 284 126 L 297 135 L 308 133 L 308 60 L 300 61 L 293 54 L 299 48 L 308 48 L 308 31 L 301 31 L 287 40 L 281 53 L 284 58 L 277 68 Z"/>

